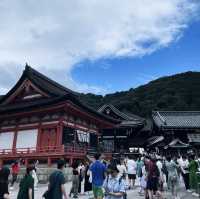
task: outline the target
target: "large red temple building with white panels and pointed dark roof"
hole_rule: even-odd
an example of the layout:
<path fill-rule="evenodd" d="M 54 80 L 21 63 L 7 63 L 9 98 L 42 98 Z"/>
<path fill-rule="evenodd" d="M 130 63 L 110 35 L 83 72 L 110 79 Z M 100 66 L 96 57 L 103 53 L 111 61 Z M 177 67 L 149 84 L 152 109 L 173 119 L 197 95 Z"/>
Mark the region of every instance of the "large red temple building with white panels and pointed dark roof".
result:
<path fill-rule="evenodd" d="M 101 129 L 119 121 L 84 105 L 77 93 L 30 66 L 0 97 L 0 161 L 23 159 L 51 165 L 82 159 L 96 148 Z"/>

